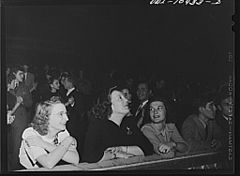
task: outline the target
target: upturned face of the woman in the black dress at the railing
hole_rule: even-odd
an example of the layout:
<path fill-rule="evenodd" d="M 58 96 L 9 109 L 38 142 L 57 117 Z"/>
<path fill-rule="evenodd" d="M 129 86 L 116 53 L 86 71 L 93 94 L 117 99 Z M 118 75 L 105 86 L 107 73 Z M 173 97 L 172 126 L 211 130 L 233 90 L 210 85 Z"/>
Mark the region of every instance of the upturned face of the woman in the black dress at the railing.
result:
<path fill-rule="evenodd" d="M 128 100 L 124 97 L 123 93 L 114 90 L 111 95 L 112 111 L 113 113 L 120 113 L 126 115 L 129 113 Z"/>

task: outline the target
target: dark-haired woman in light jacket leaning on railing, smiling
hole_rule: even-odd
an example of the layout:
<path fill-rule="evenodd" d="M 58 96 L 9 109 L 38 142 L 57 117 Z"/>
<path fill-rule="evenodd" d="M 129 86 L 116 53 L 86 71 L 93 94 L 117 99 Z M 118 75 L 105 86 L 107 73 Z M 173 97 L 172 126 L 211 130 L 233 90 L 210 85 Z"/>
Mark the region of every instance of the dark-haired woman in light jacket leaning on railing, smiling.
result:
<path fill-rule="evenodd" d="M 154 151 L 163 158 L 172 158 L 175 152 L 187 152 L 188 145 L 179 134 L 174 123 L 166 123 L 166 101 L 160 97 L 152 98 L 150 104 L 150 119 L 141 130 L 153 144 Z"/>

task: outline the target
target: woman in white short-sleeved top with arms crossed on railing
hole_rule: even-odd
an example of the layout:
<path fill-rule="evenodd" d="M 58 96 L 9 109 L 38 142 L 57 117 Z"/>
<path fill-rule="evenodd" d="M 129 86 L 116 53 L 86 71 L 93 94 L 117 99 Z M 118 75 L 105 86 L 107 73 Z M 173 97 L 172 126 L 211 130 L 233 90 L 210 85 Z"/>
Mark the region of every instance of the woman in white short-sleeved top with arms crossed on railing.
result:
<path fill-rule="evenodd" d="M 31 126 L 22 134 L 19 158 L 25 168 L 53 168 L 60 160 L 78 164 L 77 141 L 66 130 L 66 113 L 60 101 L 37 105 Z"/>

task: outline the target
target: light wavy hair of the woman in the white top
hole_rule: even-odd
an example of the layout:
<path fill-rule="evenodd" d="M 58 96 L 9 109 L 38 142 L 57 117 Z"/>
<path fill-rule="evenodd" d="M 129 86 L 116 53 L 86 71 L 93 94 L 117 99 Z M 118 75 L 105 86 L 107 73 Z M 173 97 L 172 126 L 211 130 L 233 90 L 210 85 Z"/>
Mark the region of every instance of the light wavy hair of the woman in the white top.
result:
<path fill-rule="evenodd" d="M 59 98 L 40 102 L 36 105 L 35 115 L 30 124 L 40 135 L 45 136 L 48 133 L 49 115 L 55 104 L 61 103 Z"/>

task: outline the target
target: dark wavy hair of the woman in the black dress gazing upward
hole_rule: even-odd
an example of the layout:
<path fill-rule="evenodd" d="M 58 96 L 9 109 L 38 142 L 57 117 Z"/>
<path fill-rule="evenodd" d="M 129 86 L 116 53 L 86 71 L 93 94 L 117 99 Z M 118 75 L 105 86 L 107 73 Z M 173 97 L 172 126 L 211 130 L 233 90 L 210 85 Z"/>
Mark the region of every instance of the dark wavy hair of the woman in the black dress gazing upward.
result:
<path fill-rule="evenodd" d="M 91 119 L 108 119 L 112 114 L 111 93 L 114 90 L 121 91 L 121 87 L 114 86 L 108 91 L 104 91 L 98 98 L 95 105 L 88 112 L 88 116 Z"/>

